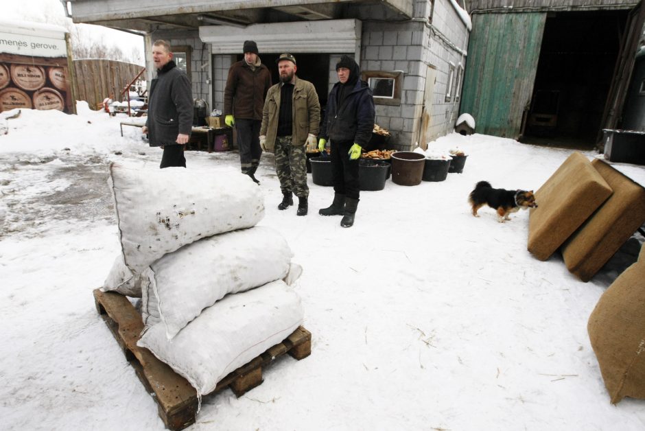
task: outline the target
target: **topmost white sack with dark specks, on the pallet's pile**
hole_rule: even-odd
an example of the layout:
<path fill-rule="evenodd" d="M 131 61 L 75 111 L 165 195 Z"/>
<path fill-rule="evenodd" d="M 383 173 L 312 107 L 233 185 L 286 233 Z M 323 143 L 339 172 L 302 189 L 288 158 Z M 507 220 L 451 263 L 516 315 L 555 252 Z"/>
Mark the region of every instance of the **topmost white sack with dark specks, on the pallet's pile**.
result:
<path fill-rule="evenodd" d="M 112 163 L 119 240 L 127 269 L 124 280 L 108 278 L 114 290 L 152 262 L 203 237 L 255 226 L 264 216 L 263 196 L 248 176 L 233 168 L 191 170 Z M 121 265 L 118 259 L 116 265 Z"/>

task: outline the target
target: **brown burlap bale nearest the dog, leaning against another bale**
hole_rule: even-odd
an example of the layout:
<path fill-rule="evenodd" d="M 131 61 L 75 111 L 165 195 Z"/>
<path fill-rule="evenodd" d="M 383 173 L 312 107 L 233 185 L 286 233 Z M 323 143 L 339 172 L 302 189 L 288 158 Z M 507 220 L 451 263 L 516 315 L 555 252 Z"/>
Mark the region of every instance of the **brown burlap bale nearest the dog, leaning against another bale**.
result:
<path fill-rule="evenodd" d="M 546 260 L 611 195 L 611 187 L 579 152 L 571 154 L 535 192 L 528 251 Z"/>

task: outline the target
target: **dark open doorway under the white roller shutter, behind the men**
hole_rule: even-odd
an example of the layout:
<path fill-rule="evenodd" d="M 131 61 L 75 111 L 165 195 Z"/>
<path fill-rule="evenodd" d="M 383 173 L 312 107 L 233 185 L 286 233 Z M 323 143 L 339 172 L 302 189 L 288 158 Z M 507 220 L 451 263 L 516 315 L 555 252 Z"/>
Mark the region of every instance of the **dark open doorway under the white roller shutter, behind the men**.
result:
<path fill-rule="evenodd" d="M 271 80 L 274 84 L 279 82 L 278 65 L 275 60 L 279 54 L 260 54 L 260 60 L 263 65 L 271 71 Z M 329 95 L 329 54 L 296 54 L 290 53 L 296 58 L 296 75 L 298 78 L 307 80 L 314 84 L 320 106 L 327 105 L 327 95 Z M 242 60 L 244 56 L 239 54 L 237 60 Z"/>

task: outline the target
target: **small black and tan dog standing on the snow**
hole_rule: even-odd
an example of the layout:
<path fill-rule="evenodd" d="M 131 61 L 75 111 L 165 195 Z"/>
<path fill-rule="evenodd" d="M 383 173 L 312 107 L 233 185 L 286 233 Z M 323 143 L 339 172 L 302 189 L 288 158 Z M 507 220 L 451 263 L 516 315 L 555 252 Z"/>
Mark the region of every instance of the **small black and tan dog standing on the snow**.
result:
<path fill-rule="evenodd" d="M 470 192 L 468 201 L 473 207 L 475 217 L 479 217 L 477 214 L 478 209 L 488 205 L 497 211 L 497 215 L 500 216 L 497 221 L 500 223 L 504 223 L 504 220 L 511 220 L 509 215 L 519 211 L 520 208 L 537 208 L 532 190 L 493 189 L 488 181 L 477 183 L 475 189 Z"/>

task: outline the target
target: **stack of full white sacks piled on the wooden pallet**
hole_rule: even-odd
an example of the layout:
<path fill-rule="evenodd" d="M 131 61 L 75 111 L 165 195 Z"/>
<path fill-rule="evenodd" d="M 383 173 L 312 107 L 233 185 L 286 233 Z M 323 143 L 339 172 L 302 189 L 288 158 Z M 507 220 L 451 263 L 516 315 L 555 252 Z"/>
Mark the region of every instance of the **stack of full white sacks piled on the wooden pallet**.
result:
<path fill-rule="evenodd" d="M 287 338 L 303 321 L 284 238 L 237 170 L 110 165 L 121 254 L 102 290 L 141 296 L 137 343 L 196 388 Z"/>

